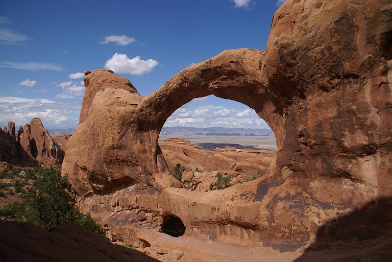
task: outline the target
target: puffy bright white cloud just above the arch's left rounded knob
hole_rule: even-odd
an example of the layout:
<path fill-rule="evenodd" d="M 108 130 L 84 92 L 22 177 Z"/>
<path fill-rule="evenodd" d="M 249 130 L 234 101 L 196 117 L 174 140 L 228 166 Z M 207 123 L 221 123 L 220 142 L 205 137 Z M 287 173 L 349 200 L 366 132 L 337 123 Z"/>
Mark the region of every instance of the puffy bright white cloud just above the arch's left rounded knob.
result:
<path fill-rule="evenodd" d="M 142 75 L 150 72 L 158 64 L 153 59 L 142 60 L 140 56 L 130 59 L 126 54 L 115 53 L 106 61 L 105 68 L 116 73 Z"/>

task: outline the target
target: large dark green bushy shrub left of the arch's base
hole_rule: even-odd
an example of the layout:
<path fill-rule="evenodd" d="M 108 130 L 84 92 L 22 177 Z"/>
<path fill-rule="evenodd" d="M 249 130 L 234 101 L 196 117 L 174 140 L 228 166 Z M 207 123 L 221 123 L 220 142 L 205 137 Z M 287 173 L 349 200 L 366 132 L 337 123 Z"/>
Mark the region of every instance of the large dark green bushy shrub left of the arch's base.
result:
<path fill-rule="evenodd" d="M 80 213 L 75 206 L 76 195 L 72 193 L 68 177 L 61 176 L 60 170 L 42 169 L 40 176 L 32 184 L 22 196 L 22 202 L 3 207 L 0 209 L 0 216 L 30 222 L 47 230 L 61 223 L 74 222 L 103 235 L 90 214 Z"/>

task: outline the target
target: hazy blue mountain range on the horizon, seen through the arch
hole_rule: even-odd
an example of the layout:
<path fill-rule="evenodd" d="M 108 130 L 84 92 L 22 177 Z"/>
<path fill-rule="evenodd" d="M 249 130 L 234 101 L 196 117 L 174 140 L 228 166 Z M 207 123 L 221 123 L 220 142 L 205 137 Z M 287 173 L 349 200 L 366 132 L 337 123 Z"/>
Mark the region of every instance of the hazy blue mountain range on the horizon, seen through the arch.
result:
<path fill-rule="evenodd" d="M 160 137 L 178 136 L 274 136 L 269 128 L 233 127 L 164 127 Z"/>

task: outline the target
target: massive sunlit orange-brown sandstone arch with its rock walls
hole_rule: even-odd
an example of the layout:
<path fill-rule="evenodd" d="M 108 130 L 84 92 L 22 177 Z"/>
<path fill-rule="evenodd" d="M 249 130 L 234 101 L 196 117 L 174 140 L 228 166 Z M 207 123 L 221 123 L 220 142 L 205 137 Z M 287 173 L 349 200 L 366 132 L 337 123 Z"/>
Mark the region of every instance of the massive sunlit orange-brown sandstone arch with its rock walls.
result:
<path fill-rule="evenodd" d="M 173 214 L 184 236 L 295 250 L 328 220 L 391 197 L 391 10 L 382 0 L 287 0 L 266 52 L 223 51 L 146 97 L 109 71 L 88 73 L 62 168 L 81 209 L 128 243 L 152 241 L 143 230 Z M 206 95 L 244 103 L 270 125 L 278 151 L 265 176 L 196 192 L 170 175 L 159 132 Z"/>

